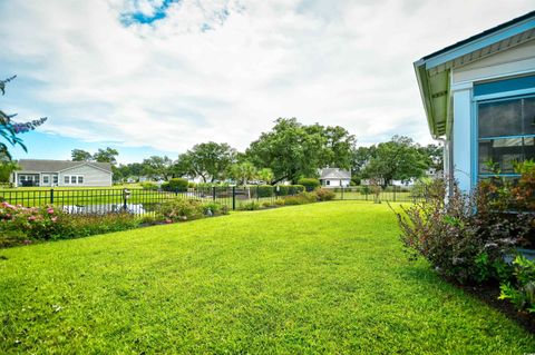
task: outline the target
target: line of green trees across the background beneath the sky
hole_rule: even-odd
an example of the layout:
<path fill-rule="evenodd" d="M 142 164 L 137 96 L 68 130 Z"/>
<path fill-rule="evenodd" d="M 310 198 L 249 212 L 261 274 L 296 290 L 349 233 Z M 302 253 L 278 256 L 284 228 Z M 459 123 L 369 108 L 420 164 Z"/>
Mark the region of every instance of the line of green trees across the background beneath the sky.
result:
<path fill-rule="evenodd" d="M 442 148 L 420 146 L 411 138 L 393 136 L 389 141 L 357 147 L 357 139 L 340 126 L 303 125 L 295 118 L 279 118 L 245 149 L 237 151 L 223 142 L 202 142 L 178 155 L 152 156 L 142 162 L 117 165 L 118 151 L 99 149 L 95 154 L 75 149 L 72 160 L 107 161 L 114 166 L 114 179 L 126 181 L 144 177 L 169 180 L 198 177 L 203 183 L 226 180 L 246 184 L 259 179 L 266 184 L 283 180 L 296 184 L 303 177 L 317 177 L 321 168 L 350 170 L 354 184 L 379 179 L 408 181 L 426 171 L 442 169 Z"/>

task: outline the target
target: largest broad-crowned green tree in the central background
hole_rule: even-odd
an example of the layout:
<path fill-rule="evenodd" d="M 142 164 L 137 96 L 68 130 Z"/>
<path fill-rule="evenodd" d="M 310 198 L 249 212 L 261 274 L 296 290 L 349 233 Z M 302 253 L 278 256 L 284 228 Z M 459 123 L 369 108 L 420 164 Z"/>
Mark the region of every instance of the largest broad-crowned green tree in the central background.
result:
<path fill-rule="evenodd" d="M 253 141 L 246 156 L 273 171 L 274 180 L 296 183 L 324 166 L 349 168 L 354 137 L 341 127 L 304 126 L 295 118 L 279 118 L 269 132 Z"/>

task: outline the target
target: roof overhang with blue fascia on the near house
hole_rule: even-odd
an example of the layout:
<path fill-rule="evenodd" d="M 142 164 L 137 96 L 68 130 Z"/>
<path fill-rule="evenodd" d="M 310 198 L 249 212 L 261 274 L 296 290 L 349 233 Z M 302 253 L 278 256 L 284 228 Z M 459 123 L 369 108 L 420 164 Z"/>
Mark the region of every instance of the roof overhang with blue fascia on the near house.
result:
<path fill-rule="evenodd" d="M 429 131 L 451 131 L 451 71 L 535 39 L 535 11 L 428 55 L 414 63 Z"/>

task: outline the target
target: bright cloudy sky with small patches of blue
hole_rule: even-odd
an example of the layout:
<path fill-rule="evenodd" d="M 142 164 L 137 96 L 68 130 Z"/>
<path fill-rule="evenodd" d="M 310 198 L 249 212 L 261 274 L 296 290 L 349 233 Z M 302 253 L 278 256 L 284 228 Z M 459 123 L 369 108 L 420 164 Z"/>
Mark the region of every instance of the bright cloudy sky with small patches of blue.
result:
<path fill-rule="evenodd" d="M 119 161 L 214 140 L 244 149 L 278 117 L 360 145 L 427 144 L 412 62 L 535 0 L 0 0 L 0 98 L 29 154 L 111 146 Z"/>

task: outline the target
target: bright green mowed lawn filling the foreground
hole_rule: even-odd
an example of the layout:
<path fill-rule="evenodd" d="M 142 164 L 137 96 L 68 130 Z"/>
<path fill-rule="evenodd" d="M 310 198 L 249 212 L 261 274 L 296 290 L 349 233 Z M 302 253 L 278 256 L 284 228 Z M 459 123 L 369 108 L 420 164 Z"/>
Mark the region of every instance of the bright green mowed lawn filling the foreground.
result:
<path fill-rule="evenodd" d="M 0 250 L 0 353 L 523 354 L 535 337 L 333 201 Z"/>

